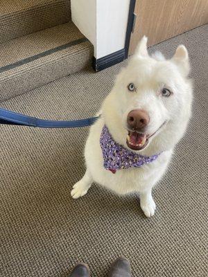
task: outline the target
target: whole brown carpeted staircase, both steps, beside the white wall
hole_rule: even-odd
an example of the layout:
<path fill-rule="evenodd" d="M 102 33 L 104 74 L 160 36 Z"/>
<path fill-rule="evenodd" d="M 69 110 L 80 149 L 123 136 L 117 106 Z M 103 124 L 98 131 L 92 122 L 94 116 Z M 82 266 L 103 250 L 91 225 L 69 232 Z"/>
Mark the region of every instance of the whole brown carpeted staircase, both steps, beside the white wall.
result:
<path fill-rule="evenodd" d="M 0 101 L 76 73 L 93 46 L 71 21 L 69 0 L 0 1 Z"/>

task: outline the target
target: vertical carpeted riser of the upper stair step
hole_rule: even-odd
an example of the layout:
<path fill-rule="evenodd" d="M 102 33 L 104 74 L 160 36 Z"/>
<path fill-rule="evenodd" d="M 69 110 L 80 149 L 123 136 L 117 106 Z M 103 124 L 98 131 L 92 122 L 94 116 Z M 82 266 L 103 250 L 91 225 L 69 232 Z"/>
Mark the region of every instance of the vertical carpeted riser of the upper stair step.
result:
<path fill-rule="evenodd" d="M 71 19 L 70 1 L 48 1 L 40 6 L 0 15 L 0 43 L 44 30 Z"/>

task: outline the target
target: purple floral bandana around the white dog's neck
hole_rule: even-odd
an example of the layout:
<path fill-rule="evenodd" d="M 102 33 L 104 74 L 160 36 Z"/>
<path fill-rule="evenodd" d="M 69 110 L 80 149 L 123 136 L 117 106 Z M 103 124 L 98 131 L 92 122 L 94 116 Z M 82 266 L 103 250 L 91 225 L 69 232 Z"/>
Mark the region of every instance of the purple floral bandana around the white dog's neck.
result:
<path fill-rule="evenodd" d="M 145 164 L 155 161 L 159 156 L 159 154 L 150 157 L 141 156 L 125 149 L 112 139 L 105 125 L 101 132 L 100 144 L 103 152 L 104 168 L 112 173 L 116 173 L 116 170 L 119 169 L 140 168 Z"/>

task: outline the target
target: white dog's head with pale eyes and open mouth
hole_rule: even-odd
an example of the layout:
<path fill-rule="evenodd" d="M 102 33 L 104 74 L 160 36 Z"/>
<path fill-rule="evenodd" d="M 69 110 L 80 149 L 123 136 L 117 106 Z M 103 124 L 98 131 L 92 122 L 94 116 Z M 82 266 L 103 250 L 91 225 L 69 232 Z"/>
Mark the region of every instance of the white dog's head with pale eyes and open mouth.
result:
<path fill-rule="evenodd" d="M 117 76 L 103 114 L 112 136 L 125 147 L 164 151 L 182 137 L 191 114 L 189 57 L 183 45 L 171 60 L 161 53 L 150 56 L 146 43 L 143 37 Z"/>

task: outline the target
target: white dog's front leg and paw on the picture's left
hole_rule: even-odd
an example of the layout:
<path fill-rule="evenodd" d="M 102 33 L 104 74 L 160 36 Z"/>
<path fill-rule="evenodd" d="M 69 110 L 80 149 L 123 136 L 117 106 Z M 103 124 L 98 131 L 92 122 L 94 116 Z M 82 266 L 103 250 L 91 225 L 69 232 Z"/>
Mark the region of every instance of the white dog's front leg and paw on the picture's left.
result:
<path fill-rule="evenodd" d="M 71 190 L 71 196 L 73 199 L 86 195 L 87 190 L 89 190 L 90 186 L 92 185 L 92 181 L 93 179 L 89 170 L 86 170 L 83 179 L 80 179 L 80 181 L 78 181 Z"/>

